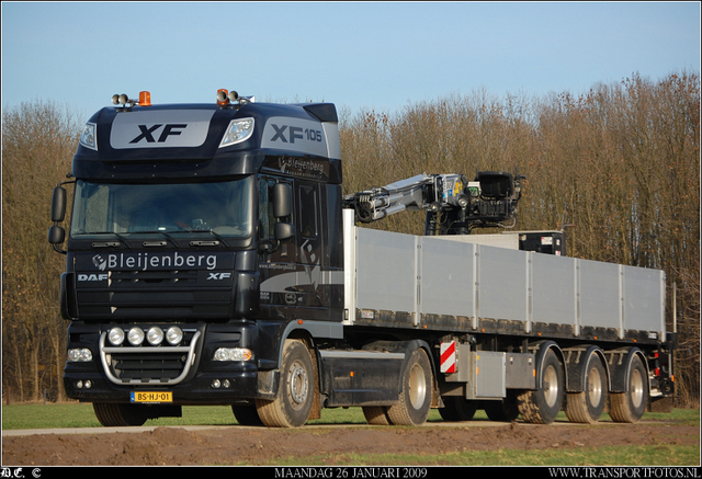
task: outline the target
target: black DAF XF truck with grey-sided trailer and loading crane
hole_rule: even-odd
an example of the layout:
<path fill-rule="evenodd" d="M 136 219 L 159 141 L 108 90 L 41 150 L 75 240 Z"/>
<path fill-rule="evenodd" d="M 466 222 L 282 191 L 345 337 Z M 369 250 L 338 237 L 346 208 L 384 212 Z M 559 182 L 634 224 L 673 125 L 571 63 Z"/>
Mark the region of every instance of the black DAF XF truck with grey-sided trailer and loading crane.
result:
<path fill-rule="evenodd" d="M 81 130 L 48 231 L 64 387 L 102 425 L 205 404 L 271 427 L 350 407 L 384 425 L 432 408 L 636 422 L 672 395 L 664 272 L 570 258 L 563 230 L 509 232 L 523 176 L 344 195 L 333 103 L 113 103 Z M 424 235 L 365 226 L 407 209 Z"/>

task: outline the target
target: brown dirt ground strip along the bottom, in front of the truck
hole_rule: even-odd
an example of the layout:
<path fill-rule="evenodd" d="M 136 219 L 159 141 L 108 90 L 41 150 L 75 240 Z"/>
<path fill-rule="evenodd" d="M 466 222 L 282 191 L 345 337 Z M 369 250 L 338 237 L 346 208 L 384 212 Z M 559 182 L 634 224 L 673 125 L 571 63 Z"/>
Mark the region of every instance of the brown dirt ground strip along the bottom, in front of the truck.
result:
<path fill-rule="evenodd" d="M 480 424 L 480 423 L 478 423 Z M 4 436 L 3 466 L 275 465 L 314 456 L 317 465 L 350 465 L 349 454 L 417 457 L 487 449 L 552 449 L 621 445 L 699 445 L 695 426 L 642 421 L 596 426 L 521 422 L 428 424 L 422 427 L 304 426 L 296 430 L 213 426 L 140 432 Z"/>

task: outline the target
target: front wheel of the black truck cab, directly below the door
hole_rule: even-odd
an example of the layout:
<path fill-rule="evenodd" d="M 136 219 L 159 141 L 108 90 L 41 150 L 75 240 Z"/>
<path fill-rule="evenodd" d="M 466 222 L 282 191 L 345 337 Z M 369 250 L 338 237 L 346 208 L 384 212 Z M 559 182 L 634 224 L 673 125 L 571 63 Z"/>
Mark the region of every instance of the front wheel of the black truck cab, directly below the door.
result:
<path fill-rule="evenodd" d="M 281 362 L 281 384 L 275 399 L 256 400 L 256 409 L 269 427 L 297 427 L 312 411 L 315 370 L 307 346 L 297 340 L 286 340 Z"/>

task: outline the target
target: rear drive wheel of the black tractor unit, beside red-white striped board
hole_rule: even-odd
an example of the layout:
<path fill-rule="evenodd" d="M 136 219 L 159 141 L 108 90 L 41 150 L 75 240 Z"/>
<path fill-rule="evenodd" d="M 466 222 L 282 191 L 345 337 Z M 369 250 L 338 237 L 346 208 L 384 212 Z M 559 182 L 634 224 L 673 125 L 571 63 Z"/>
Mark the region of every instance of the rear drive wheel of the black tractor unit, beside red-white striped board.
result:
<path fill-rule="evenodd" d="M 415 350 L 405 369 L 399 403 L 387 408 L 390 422 L 397 425 L 423 424 L 431 409 L 431 385 L 429 358 L 423 350 Z"/>

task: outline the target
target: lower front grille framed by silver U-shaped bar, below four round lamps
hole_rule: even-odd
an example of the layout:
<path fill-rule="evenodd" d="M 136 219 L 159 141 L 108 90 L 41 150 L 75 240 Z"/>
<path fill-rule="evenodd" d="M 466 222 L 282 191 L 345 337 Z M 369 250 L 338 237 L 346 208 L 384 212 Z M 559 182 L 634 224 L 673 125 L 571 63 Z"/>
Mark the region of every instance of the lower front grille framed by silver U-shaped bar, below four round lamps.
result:
<path fill-rule="evenodd" d="M 107 346 L 107 332 L 100 337 L 100 358 L 107 378 L 117 385 L 176 385 L 190 373 L 195 361 L 200 331 L 186 331 L 178 346 Z"/>

